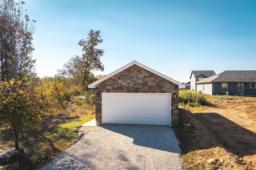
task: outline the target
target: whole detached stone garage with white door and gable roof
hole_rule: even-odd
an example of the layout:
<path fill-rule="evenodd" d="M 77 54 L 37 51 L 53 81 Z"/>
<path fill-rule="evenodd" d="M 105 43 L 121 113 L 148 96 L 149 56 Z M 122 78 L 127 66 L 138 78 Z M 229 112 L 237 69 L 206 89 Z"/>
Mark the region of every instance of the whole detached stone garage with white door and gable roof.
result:
<path fill-rule="evenodd" d="M 96 124 L 178 125 L 182 83 L 137 61 L 88 85 L 96 91 Z"/>

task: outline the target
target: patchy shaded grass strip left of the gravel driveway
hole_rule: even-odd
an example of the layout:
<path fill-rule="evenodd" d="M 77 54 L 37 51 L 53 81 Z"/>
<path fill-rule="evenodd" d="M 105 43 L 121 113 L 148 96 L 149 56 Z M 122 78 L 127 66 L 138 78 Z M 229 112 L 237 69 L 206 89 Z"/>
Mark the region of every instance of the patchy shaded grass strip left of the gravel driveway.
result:
<path fill-rule="evenodd" d="M 20 149 L 25 150 L 25 155 L 1 165 L 0 169 L 38 169 L 53 160 L 63 150 L 74 144 L 78 139 L 78 134 L 73 133 L 77 125 L 82 125 L 95 119 L 95 115 L 84 117 L 57 117 L 47 118 L 42 121 L 39 132 L 27 129 L 19 136 Z M 1 130 L 1 149 L 8 150 L 14 148 L 12 132 Z"/>

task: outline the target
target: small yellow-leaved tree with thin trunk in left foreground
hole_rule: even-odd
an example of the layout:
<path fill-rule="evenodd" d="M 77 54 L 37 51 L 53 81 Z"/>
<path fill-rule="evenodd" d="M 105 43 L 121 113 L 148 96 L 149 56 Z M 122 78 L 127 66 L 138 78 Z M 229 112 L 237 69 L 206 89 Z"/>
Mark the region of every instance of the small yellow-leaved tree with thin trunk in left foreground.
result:
<path fill-rule="evenodd" d="M 32 79 L 26 83 L 0 82 L 0 125 L 12 130 L 16 149 L 19 149 L 20 131 L 26 127 L 40 130 L 42 103 Z"/>

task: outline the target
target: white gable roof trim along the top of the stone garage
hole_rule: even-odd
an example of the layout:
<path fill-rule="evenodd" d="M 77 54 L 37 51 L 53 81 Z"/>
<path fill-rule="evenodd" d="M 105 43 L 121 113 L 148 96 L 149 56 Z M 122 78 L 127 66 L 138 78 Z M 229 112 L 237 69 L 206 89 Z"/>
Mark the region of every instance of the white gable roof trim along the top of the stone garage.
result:
<path fill-rule="evenodd" d="M 152 73 L 154 73 L 154 74 L 156 74 L 156 75 L 158 75 L 158 76 L 160 76 L 160 77 L 163 77 L 164 79 L 166 79 L 166 80 L 168 80 L 168 81 L 171 81 L 172 83 L 175 83 L 176 85 L 179 86 L 179 89 L 185 89 L 185 87 L 186 87 L 184 84 L 182 84 L 182 83 L 180 83 L 180 82 L 178 82 L 178 81 L 176 81 L 176 80 L 174 80 L 174 79 L 172 79 L 172 78 L 170 78 L 170 77 L 168 77 L 168 76 L 166 76 L 166 75 L 163 75 L 162 73 L 159 73 L 158 71 L 155 71 L 155 70 L 153 70 L 153 69 L 147 67 L 146 65 L 143 65 L 143 64 L 141 64 L 141 63 L 139 63 L 139 62 L 137 62 L 137 61 L 134 60 L 134 61 L 132 61 L 132 62 L 130 62 L 130 63 L 124 65 L 124 66 L 121 67 L 120 69 L 117 69 L 116 71 L 114 71 L 114 72 L 112 72 L 112 73 L 110 73 L 110 74 L 108 74 L 108 75 L 102 77 L 101 79 L 99 79 L 99 80 L 97 80 L 97 81 L 94 81 L 94 83 L 88 85 L 88 88 L 95 88 L 96 85 L 98 85 L 98 84 L 101 83 L 102 81 L 105 81 L 106 79 L 109 79 L 110 77 L 112 77 L 112 76 L 114 76 L 114 75 L 116 75 L 116 74 L 118 74 L 118 73 L 124 71 L 125 69 L 131 67 L 131 66 L 134 65 L 134 64 L 135 64 L 135 65 L 138 65 L 138 66 L 140 66 L 140 67 L 142 67 L 142 68 L 144 68 L 144 69 L 146 69 L 146 70 L 148 70 L 148 71 L 150 71 L 150 72 L 152 72 Z"/>

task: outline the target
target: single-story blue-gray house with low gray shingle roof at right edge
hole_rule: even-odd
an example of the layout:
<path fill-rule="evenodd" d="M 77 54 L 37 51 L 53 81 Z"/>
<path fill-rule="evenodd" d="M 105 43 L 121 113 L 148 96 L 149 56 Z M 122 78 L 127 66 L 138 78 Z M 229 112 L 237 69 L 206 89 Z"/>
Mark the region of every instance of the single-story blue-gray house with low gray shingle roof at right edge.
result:
<path fill-rule="evenodd" d="M 196 82 L 196 89 L 209 95 L 256 95 L 256 70 L 223 71 Z"/>

